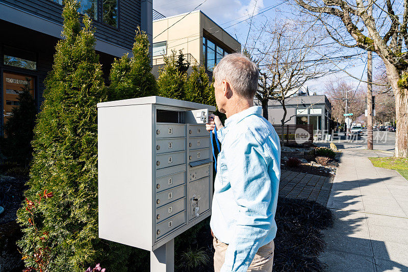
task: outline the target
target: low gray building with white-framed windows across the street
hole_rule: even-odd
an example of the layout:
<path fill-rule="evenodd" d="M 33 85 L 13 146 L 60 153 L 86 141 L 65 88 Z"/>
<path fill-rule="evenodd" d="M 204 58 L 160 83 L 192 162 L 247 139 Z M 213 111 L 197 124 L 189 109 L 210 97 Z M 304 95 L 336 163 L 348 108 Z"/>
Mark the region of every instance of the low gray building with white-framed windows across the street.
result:
<path fill-rule="evenodd" d="M 326 95 L 309 95 L 298 92 L 285 98 L 287 110 L 285 125 L 313 125 L 315 133 L 333 129 L 331 121 L 331 104 Z M 281 125 L 284 109 L 278 101 L 268 103 L 268 118 L 272 125 Z"/>

